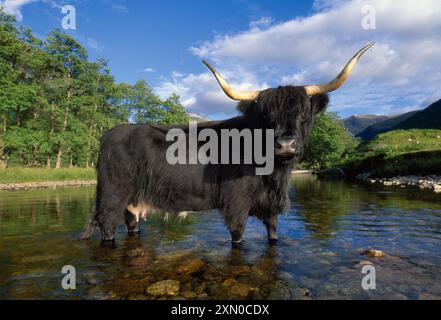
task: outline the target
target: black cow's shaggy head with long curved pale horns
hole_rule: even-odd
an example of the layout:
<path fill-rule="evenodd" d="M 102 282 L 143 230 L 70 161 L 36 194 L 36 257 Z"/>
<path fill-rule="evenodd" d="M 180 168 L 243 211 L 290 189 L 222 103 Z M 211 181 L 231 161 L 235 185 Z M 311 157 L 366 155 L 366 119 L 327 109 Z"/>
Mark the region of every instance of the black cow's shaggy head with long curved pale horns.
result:
<path fill-rule="evenodd" d="M 314 125 L 315 116 L 323 112 L 328 105 L 327 93 L 335 91 L 343 85 L 358 59 L 373 45 L 370 43 L 362 48 L 348 62 L 337 78 L 322 85 L 284 86 L 263 91 L 238 91 L 230 87 L 209 63 L 205 61 L 204 63 L 213 72 L 225 94 L 233 100 L 240 101 L 239 111 L 256 119 L 259 127 L 274 129 L 277 159 L 290 162 L 292 159 L 302 157 L 305 142 Z"/>

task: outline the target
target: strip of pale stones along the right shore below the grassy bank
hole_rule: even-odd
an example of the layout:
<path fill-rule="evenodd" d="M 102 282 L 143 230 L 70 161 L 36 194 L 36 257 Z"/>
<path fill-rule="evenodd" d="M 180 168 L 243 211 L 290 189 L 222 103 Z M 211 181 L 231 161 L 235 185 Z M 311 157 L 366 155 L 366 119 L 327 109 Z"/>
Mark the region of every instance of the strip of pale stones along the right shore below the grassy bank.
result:
<path fill-rule="evenodd" d="M 441 176 L 402 176 L 393 178 L 370 178 L 369 175 L 361 174 L 358 180 L 370 184 L 381 184 L 385 187 L 419 188 L 441 193 Z"/>

